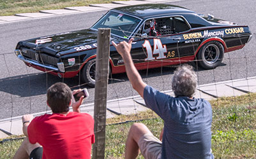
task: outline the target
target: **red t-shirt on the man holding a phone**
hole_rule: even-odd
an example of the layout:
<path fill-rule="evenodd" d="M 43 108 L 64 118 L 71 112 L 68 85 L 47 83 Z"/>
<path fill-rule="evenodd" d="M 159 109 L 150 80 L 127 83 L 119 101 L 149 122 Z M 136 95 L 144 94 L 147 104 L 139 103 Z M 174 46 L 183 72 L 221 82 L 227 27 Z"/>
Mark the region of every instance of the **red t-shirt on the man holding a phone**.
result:
<path fill-rule="evenodd" d="M 27 134 L 43 146 L 43 158 L 91 158 L 94 120 L 87 113 L 45 114 L 31 121 Z"/>

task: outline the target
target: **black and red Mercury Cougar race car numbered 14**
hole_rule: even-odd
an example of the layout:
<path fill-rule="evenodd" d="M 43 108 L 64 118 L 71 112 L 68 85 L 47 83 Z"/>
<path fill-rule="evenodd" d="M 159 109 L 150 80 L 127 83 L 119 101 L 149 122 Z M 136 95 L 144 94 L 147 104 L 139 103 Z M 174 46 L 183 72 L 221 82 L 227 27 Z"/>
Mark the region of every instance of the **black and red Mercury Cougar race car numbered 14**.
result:
<path fill-rule="evenodd" d="M 241 49 L 252 38 L 246 25 L 203 17 L 180 6 L 143 4 L 110 10 L 90 29 L 20 41 L 15 53 L 27 66 L 61 78 L 81 73 L 82 80 L 94 86 L 98 28 L 111 28 L 116 43 L 134 38 L 131 54 L 137 69 L 192 60 L 213 69 L 224 52 Z M 112 74 L 125 72 L 111 44 L 109 62 Z"/>

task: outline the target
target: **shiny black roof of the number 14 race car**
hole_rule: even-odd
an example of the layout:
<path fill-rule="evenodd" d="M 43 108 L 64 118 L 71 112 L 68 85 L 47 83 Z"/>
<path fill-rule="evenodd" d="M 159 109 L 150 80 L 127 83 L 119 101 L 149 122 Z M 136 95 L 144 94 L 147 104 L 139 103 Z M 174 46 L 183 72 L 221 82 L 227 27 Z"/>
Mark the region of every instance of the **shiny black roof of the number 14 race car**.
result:
<path fill-rule="evenodd" d="M 112 10 L 121 11 L 136 17 L 145 19 L 151 17 L 161 17 L 164 15 L 175 15 L 183 13 L 195 13 L 181 6 L 174 6 L 170 4 L 140 4 L 135 6 L 123 6 L 114 8 Z"/>

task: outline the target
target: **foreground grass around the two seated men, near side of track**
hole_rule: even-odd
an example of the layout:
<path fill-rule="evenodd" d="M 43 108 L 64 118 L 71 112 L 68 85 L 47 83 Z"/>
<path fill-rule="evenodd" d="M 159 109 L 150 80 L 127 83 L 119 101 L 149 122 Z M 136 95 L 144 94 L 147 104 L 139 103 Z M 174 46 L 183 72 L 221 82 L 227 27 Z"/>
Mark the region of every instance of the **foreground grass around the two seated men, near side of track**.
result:
<path fill-rule="evenodd" d="M 212 100 L 212 149 L 215 158 L 256 158 L 256 93 Z M 152 111 L 118 116 L 107 123 L 140 121 L 156 137 L 163 128 L 162 119 Z M 125 141 L 133 122 L 106 127 L 105 158 L 124 158 Z M 0 144 L 0 158 L 11 158 L 22 140 Z M 141 155 L 139 158 L 143 158 Z"/>

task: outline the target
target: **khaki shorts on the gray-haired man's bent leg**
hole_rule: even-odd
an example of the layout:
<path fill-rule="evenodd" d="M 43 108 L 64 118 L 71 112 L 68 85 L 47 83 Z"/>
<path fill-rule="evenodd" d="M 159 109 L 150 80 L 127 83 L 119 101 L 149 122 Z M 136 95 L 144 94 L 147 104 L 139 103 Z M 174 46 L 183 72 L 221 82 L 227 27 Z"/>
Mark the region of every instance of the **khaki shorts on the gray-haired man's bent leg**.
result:
<path fill-rule="evenodd" d="M 153 134 L 144 134 L 140 137 L 138 145 L 145 159 L 161 158 L 162 142 L 158 138 L 154 137 Z"/>

